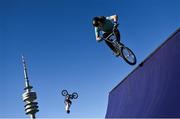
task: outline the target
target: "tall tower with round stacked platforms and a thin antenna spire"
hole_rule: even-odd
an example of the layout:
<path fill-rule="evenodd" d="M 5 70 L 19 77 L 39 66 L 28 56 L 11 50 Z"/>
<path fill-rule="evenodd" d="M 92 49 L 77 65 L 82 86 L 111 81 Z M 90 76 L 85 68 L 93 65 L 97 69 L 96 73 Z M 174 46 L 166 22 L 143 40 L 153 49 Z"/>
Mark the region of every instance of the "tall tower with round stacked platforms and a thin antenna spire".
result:
<path fill-rule="evenodd" d="M 23 67 L 24 67 L 24 79 L 25 79 L 25 92 L 22 95 L 23 101 L 26 103 L 25 107 L 25 111 L 27 115 L 30 115 L 31 119 L 35 119 L 35 114 L 36 112 L 38 112 L 38 103 L 35 102 L 35 100 L 37 99 L 36 96 L 36 92 L 31 91 L 31 89 L 33 88 L 30 83 L 29 83 L 29 79 L 28 79 L 28 75 L 27 75 L 27 65 L 24 59 L 24 56 L 22 56 L 22 63 L 23 63 Z"/>

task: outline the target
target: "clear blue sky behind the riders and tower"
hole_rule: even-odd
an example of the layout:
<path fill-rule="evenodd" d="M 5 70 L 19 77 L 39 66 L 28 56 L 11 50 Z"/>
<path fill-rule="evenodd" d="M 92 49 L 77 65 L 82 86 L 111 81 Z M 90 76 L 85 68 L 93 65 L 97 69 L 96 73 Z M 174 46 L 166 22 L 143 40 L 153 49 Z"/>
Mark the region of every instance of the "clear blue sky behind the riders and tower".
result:
<path fill-rule="evenodd" d="M 108 93 L 136 66 L 97 43 L 94 16 L 119 15 L 122 42 L 139 64 L 180 27 L 180 0 L 0 0 L 0 117 L 28 117 L 21 54 L 37 92 L 37 117 L 103 118 Z M 71 114 L 67 89 L 78 92 Z"/>

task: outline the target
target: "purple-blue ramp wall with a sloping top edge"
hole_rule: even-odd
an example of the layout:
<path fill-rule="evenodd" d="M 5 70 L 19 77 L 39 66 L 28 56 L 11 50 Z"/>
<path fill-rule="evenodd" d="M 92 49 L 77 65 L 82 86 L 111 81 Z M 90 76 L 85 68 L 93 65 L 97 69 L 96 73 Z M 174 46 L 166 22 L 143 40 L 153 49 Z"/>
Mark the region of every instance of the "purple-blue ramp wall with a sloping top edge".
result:
<path fill-rule="evenodd" d="M 106 118 L 180 117 L 180 29 L 110 93 Z"/>

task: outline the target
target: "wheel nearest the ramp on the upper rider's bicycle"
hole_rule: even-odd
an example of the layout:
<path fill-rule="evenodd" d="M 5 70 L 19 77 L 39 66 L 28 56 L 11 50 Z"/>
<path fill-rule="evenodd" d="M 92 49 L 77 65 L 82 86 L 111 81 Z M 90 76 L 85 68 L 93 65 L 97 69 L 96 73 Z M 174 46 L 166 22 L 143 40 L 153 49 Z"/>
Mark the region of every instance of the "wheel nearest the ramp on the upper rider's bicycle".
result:
<path fill-rule="evenodd" d="M 136 64 L 136 56 L 131 49 L 123 46 L 121 48 L 122 58 L 130 65 Z"/>

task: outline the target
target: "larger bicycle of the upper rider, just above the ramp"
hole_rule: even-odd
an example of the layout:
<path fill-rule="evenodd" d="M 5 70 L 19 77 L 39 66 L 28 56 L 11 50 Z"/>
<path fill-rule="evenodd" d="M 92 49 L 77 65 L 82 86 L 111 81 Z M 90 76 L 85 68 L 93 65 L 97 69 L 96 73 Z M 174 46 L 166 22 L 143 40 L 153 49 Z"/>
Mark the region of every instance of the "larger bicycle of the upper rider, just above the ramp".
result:
<path fill-rule="evenodd" d="M 124 44 L 118 43 L 116 40 L 117 38 L 115 35 L 115 30 L 117 29 L 117 27 L 118 24 L 115 24 L 112 33 L 104 38 L 104 40 L 110 42 L 114 46 L 116 51 L 120 54 L 119 56 L 122 57 L 128 64 L 135 65 L 137 60 L 133 51 L 130 48 L 126 47 Z"/>

